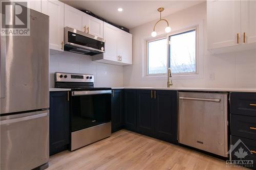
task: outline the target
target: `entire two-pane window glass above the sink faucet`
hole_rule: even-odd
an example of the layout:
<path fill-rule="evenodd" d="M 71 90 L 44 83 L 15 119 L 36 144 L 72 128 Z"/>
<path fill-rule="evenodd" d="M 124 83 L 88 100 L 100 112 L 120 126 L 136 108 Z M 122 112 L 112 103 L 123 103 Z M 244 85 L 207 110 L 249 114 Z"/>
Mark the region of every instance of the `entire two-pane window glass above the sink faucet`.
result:
<path fill-rule="evenodd" d="M 147 41 L 147 76 L 164 75 L 168 67 L 174 75 L 196 74 L 196 49 L 196 28 Z"/>

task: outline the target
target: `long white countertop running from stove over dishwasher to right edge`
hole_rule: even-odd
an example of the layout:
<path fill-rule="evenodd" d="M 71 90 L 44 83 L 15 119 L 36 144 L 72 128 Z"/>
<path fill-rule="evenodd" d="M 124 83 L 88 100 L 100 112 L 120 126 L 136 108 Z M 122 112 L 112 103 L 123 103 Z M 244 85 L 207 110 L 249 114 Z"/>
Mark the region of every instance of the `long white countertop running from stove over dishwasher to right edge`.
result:
<path fill-rule="evenodd" d="M 112 87 L 112 89 L 155 89 L 155 90 L 181 90 L 181 91 L 256 92 L 256 88 Z"/>

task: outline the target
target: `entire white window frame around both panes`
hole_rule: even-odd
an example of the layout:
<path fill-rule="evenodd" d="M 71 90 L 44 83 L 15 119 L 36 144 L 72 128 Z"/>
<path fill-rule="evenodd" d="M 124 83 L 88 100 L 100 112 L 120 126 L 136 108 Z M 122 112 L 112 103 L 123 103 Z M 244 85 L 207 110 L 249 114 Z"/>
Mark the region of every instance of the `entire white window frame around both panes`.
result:
<path fill-rule="evenodd" d="M 191 27 L 187 27 L 185 29 L 181 29 L 178 31 L 174 31 L 171 32 L 169 34 L 164 34 L 161 36 L 157 36 L 154 38 L 148 38 L 146 40 L 146 55 L 145 55 L 145 63 L 144 63 L 144 78 L 165 78 L 165 76 L 167 75 L 167 71 L 169 68 L 169 37 L 172 35 L 176 35 L 176 34 L 180 34 L 180 33 L 184 33 L 187 31 L 191 31 L 191 30 L 196 30 L 196 72 L 184 72 L 184 73 L 173 73 L 173 77 L 184 77 L 184 76 L 196 76 L 199 74 L 199 25 L 194 25 Z M 167 60 L 167 68 L 166 68 L 166 73 L 164 74 L 148 74 L 148 42 L 152 42 L 152 41 L 156 41 L 156 40 L 160 40 L 160 39 L 164 39 L 166 38 L 166 45 L 167 45 L 167 56 L 166 56 L 166 60 Z"/>

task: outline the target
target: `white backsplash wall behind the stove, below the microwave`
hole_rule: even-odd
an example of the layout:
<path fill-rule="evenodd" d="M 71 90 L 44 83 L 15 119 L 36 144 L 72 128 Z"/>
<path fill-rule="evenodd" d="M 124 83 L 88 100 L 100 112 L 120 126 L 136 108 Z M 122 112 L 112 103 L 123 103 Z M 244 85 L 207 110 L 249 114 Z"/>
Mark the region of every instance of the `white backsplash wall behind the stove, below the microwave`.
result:
<path fill-rule="evenodd" d="M 71 52 L 50 55 L 50 88 L 54 87 L 55 72 L 93 74 L 94 86 L 123 86 L 123 67 L 92 61 L 93 56 Z"/>

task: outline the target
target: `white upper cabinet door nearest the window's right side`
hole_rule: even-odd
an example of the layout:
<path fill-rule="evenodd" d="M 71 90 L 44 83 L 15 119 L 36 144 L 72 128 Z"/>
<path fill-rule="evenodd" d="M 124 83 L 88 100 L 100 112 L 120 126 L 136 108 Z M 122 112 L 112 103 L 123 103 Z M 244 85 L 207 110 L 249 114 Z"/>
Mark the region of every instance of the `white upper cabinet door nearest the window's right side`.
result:
<path fill-rule="evenodd" d="M 208 50 L 241 44 L 241 1 L 207 1 L 207 32 Z"/>

